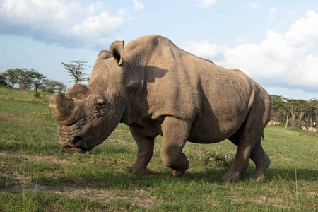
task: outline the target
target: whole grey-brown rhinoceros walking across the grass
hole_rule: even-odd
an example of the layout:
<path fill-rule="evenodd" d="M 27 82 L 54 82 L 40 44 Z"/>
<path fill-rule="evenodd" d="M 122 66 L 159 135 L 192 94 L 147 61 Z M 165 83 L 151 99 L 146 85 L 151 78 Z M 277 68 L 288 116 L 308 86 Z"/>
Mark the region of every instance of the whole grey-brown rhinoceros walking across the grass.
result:
<path fill-rule="evenodd" d="M 160 35 L 113 42 L 98 55 L 89 83 L 52 95 L 49 108 L 59 143 L 79 153 L 105 141 L 119 122 L 128 125 L 138 148 L 129 172 L 148 172 L 158 135 L 160 158 L 174 176 L 189 168 L 182 153 L 187 141 L 237 145 L 224 181 L 237 182 L 249 158 L 256 165 L 250 177 L 263 180 L 270 163 L 261 146 L 271 113 L 266 90 L 242 71 L 196 57 Z"/>

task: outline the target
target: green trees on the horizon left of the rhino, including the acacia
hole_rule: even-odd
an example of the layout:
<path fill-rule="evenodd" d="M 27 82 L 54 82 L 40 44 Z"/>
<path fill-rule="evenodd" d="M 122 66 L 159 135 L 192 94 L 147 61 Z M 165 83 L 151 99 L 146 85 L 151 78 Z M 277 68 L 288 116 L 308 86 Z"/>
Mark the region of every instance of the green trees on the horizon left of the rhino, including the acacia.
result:
<path fill-rule="evenodd" d="M 83 83 L 88 81 L 86 74 L 83 72 L 88 66 L 86 61 L 71 61 L 71 63 L 61 63 L 64 71 L 71 76 L 71 82 Z M 35 69 L 7 69 L 0 73 L 0 85 L 23 90 L 34 90 L 38 94 L 38 90 L 50 93 L 65 93 L 66 85 L 59 81 L 54 81 Z"/>

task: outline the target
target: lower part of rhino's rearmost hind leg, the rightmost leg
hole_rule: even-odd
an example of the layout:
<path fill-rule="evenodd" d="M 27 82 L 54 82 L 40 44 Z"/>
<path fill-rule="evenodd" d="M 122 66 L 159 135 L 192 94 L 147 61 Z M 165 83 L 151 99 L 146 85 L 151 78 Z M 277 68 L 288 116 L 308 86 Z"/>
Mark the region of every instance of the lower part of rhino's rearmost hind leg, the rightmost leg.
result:
<path fill-rule="evenodd" d="M 269 167 L 271 160 L 269 160 L 269 156 L 266 155 L 263 147 L 261 146 L 261 140 L 255 144 L 249 158 L 251 158 L 256 165 L 255 171 L 249 175 L 249 177 L 263 181 L 264 173 L 267 167 Z"/>

